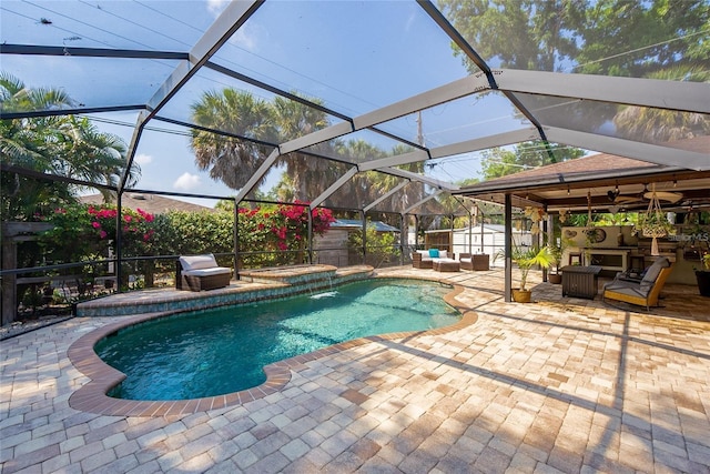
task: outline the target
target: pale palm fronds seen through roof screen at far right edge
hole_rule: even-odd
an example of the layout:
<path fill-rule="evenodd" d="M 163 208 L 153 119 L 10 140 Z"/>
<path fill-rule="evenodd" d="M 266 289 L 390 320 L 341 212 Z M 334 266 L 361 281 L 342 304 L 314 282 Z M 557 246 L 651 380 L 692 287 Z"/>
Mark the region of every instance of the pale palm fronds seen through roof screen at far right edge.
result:
<path fill-rule="evenodd" d="M 677 65 L 656 71 L 649 79 L 710 82 L 710 71 L 693 65 Z M 710 132 L 710 120 L 702 113 L 628 105 L 619 110 L 613 124 L 627 138 L 657 143 L 691 139 Z"/>

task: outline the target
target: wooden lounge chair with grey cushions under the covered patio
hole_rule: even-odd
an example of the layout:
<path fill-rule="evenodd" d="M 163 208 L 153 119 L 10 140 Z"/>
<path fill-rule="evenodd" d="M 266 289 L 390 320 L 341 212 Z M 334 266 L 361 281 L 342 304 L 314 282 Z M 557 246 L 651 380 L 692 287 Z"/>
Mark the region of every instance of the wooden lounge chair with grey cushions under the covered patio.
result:
<path fill-rule="evenodd" d="M 649 311 L 651 306 L 658 306 L 658 299 L 671 270 L 670 262 L 662 256 L 646 270 L 640 280 L 629 278 L 626 272 L 617 273 L 612 281 L 604 285 L 602 299 L 605 303 L 607 300 L 623 301 L 646 306 Z"/>

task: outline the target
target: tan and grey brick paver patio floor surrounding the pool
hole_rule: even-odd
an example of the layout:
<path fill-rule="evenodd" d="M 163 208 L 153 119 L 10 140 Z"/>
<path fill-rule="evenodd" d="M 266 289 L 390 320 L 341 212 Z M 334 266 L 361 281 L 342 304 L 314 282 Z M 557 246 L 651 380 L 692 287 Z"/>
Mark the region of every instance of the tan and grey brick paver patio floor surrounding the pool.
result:
<path fill-rule="evenodd" d="M 118 317 L 3 341 L 2 473 L 710 472 L 710 300 L 697 289 L 667 285 L 647 313 L 549 283 L 535 303 L 505 303 L 500 271 L 379 273 L 447 278 L 478 319 L 295 365 L 261 400 L 163 417 L 69 405 L 88 379 L 68 347 Z"/>

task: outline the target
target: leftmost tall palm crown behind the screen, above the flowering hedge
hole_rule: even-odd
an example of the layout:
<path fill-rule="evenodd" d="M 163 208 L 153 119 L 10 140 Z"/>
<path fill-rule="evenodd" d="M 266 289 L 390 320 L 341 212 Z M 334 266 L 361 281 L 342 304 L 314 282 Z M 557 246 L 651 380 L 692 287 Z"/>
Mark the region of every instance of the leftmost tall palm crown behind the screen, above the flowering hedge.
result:
<path fill-rule="evenodd" d="M 266 142 L 277 139 L 273 107 L 235 89 L 206 92 L 192 105 L 192 119 L 199 125 L 233 135 Z M 191 147 L 197 167 L 210 170 L 212 179 L 234 190 L 244 186 L 271 152 L 264 144 L 203 130 L 193 130 Z"/>

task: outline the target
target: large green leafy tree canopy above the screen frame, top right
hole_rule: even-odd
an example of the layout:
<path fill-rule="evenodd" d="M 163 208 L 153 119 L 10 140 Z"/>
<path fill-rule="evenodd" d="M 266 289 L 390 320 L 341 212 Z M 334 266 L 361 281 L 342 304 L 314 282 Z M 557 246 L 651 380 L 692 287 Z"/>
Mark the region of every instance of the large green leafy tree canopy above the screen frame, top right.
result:
<path fill-rule="evenodd" d="M 645 77 L 707 63 L 703 0 L 439 0 L 439 8 L 493 67 Z M 456 54 L 462 54 L 453 46 Z M 469 71 L 477 67 L 463 58 Z"/>

